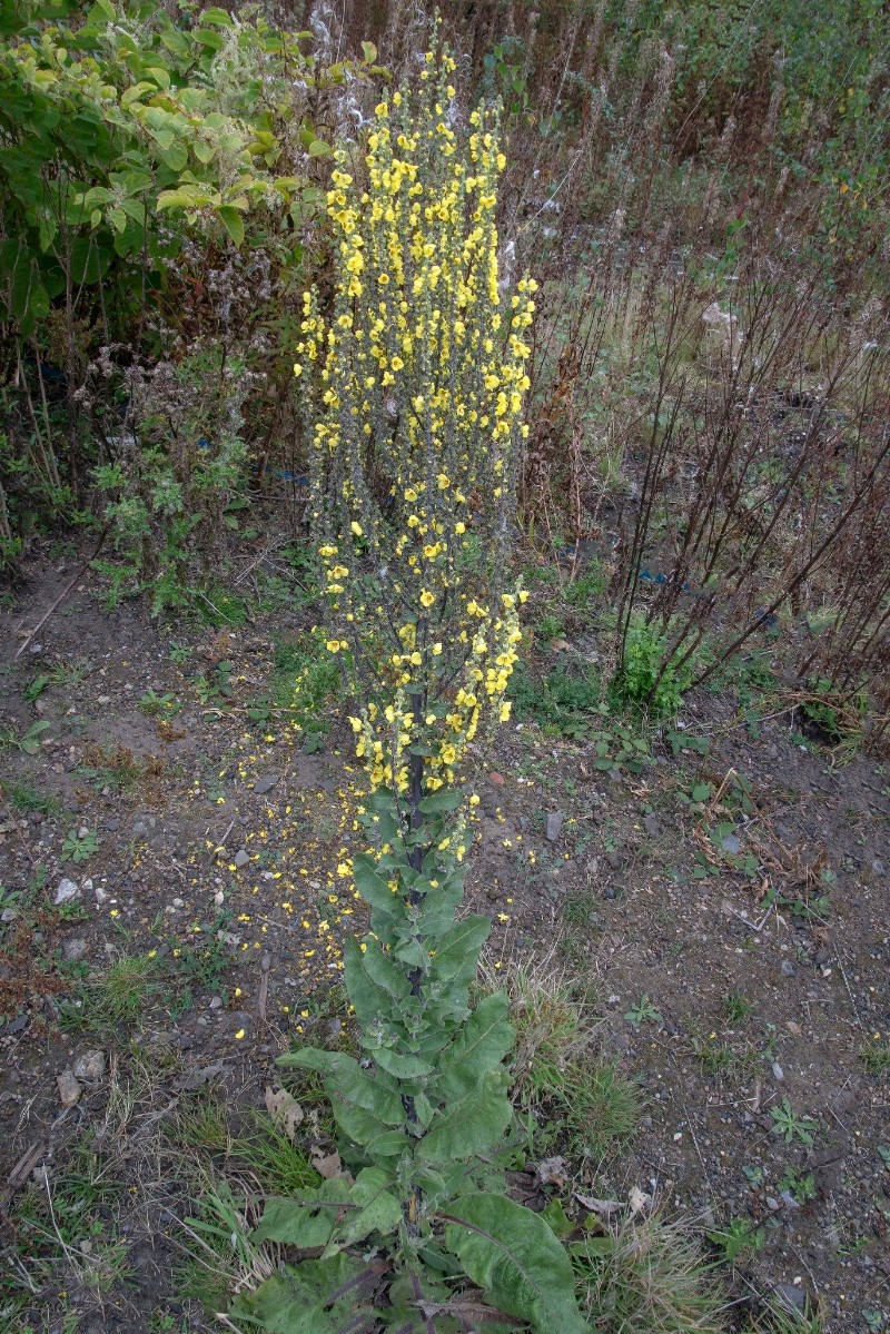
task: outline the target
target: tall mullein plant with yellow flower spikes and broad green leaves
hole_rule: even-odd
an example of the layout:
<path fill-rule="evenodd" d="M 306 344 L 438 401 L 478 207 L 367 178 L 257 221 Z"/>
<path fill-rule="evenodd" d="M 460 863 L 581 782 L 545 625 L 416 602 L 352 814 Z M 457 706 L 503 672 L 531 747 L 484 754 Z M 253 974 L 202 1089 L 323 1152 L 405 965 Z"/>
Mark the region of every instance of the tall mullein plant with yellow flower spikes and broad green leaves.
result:
<path fill-rule="evenodd" d="M 588 1329 L 562 1243 L 506 1195 L 515 1034 L 503 994 L 470 1003 L 490 922 L 458 916 L 462 760 L 510 714 L 520 639 L 508 552 L 535 284 L 500 289 L 496 115 L 458 133 L 452 72 L 428 55 L 418 89 L 376 108 L 364 161 L 340 153 L 334 293 L 307 295 L 295 367 L 327 651 L 352 675 L 368 775 L 352 872 L 371 930 L 344 948 L 360 1058 L 280 1061 L 323 1075 L 356 1173 L 267 1203 L 256 1239 L 320 1254 L 236 1307 L 282 1334 Z"/>

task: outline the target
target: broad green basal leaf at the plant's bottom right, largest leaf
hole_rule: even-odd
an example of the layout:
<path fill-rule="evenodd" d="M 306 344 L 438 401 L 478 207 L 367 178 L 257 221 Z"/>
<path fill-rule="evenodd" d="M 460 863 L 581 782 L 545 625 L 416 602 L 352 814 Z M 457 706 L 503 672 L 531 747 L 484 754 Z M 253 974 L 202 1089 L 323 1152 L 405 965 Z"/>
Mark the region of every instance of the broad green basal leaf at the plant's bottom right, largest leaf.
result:
<path fill-rule="evenodd" d="M 494 1306 L 539 1334 L 590 1334 L 568 1255 L 543 1218 L 486 1191 L 455 1201 L 442 1217 L 446 1246 Z"/>

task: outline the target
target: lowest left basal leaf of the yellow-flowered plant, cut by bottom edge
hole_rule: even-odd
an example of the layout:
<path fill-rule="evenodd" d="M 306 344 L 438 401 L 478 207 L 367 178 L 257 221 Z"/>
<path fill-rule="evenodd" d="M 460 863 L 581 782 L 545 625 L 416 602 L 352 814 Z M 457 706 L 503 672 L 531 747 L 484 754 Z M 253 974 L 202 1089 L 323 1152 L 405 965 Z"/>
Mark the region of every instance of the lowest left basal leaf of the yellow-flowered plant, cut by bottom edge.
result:
<path fill-rule="evenodd" d="M 359 1314 L 372 1314 L 372 1286 L 359 1281 L 367 1270 L 343 1251 L 283 1266 L 255 1293 L 239 1297 L 231 1318 L 236 1327 L 243 1322 L 266 1334 L 340 1334 Z"/>

